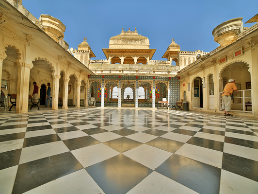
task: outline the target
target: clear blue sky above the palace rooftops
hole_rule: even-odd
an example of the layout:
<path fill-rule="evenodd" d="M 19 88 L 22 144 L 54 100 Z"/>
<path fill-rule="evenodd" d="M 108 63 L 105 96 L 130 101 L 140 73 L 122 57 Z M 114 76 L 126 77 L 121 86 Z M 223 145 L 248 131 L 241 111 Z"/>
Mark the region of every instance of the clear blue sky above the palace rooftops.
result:
<path fill-rule="evenodd" d="M 23 0 L 23 6 L 36 18 L 48 14 L 60 19 L 69 48 L 87 37 L 97 56 L 92 59 L 106 59 L 102 48 L 122 27 L 136 27 L 149 38 L 150 49 L 157 49 L 152 60 L 166 60 L 161 57 L 172 38 L 182 51 L 210 52 L 218 46 L 212 35 L 217 25 L 240 17 L 246 22 L 258 13 L 257 0 Z"/>

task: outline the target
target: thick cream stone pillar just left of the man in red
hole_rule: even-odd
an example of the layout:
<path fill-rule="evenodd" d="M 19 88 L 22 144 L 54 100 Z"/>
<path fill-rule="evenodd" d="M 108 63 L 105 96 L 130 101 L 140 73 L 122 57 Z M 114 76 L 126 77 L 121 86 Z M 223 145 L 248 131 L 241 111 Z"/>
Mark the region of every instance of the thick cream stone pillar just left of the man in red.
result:
<path fill-rule="evenodd" d="M 18 66 L 16 113 L 28 112 L 30 71 L 32 67 L 33 65 L 26 63 Z"/>

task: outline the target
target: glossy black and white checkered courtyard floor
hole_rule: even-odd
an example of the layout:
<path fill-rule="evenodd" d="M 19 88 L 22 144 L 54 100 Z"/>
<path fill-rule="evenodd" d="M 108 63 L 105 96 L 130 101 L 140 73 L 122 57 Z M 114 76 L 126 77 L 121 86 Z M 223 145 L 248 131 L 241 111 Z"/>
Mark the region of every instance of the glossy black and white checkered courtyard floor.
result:
<path fill-rule="evenodd" d="M 257 194 L 258 120 L 72 109 L 0 118 L 0 194 Z"/>

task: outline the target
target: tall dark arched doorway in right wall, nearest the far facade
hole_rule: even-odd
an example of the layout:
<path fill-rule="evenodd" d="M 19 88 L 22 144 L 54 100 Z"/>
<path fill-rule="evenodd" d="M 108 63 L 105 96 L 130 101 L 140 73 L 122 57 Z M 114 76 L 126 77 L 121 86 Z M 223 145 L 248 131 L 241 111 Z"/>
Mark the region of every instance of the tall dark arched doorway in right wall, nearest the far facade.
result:
<path fill-rule="evenodd" d="M 203 108 L 203 85 L 200 77 L 194 79 L 193 91 L 193 107 Z"/>

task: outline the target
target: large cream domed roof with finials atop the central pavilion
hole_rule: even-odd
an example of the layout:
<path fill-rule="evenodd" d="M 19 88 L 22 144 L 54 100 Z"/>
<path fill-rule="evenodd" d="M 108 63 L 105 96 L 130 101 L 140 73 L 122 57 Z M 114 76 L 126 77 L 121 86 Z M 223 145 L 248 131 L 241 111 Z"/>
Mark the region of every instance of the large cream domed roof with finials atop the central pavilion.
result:
<path fill-rule="evenodd" d="M 149 39 L 143 35 L 138 35 L 135 31 L 124 32 L 122 30 L 120 35 L 110 38 L 109 48 L 123 48 L 123 49 L 149 49 Z"/>

